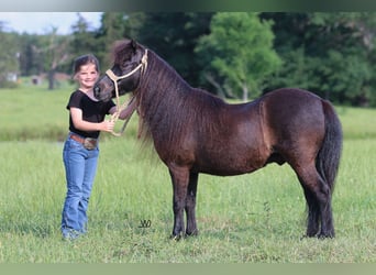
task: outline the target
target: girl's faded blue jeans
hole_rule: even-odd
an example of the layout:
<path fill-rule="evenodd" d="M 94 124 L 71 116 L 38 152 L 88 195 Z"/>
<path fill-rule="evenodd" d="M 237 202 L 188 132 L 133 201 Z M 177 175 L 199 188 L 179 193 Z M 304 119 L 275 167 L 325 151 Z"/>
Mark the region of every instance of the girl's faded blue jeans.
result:
<path fill-rule="evenodd" d="M 63 161 L 67 194 L 62 215 L 62 233 L 65 238 L 69 238 L 71 232 L 86 233 L 87 209 L 97 172 L 98 156 L 98 146 L 95 150 L 87 150 L 69 136 L 65 141 Z"/>

